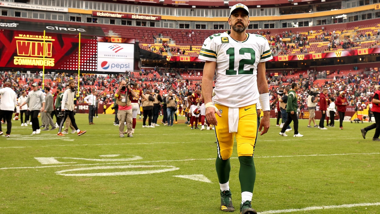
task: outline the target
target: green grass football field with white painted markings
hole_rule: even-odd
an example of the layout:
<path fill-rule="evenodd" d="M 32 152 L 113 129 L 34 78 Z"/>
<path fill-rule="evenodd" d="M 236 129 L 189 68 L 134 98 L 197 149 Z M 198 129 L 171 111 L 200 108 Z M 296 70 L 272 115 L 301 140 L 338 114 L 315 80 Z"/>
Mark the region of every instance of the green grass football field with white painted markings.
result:
<path fill-rule="evenodd" d="M 96 125 L 88 125 L 87 117 L 76 115 L 78 127 L 87 130 L 86 134 L 65 137 L 55 136 L 56 130 L 31 136 L 31 126 L 21 127 L 19 121 L 13 121 L 11 138 L 0 137 L 1 214 L 224 213 L 219 210 L 214 131 L 190 130 L 184 117 L 173 127 L 141 128 L 138 120 L 133 138 L 119 138 L 113 115 L 99 115 L 94 119 Z M 306 128 L 307 120 L 300 120 L 303 138 L 294 138 L 293 131 L 288 137 L 280 136 L 275 119 L 271 124 L 255 147 L 253 208 L 263 214 L 304 208 L 291 213 L 380 213 L 380 204 L 363 206 L 380 202 L 380 143 L 372 141 L 374 130 L 367 133 L 367 139 L 360 133 L 368 123 L 344 122 L 344 130 L 319 130 Z M 2 128 L 5 132 L 6 125 Z M 120 160 L 137 156 L 138 160 Z M 62 163 L 41 164 L 35 159 L 38 157 L 54 157 Z M 115 159 L 119 160 L 112 161 Z M 238 213 L 241 195 L 236 145 L 231 165 L 230 188 Z M 70 169 L 77 171 L 62 174 L 172 171 L 113 176 L 57 173 Z M 211 183 L 174 177 L 194 174 Z M 308 208 L 344 204 L 354 205 Z"/>

